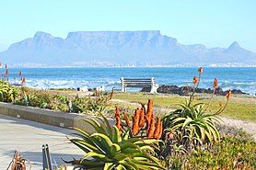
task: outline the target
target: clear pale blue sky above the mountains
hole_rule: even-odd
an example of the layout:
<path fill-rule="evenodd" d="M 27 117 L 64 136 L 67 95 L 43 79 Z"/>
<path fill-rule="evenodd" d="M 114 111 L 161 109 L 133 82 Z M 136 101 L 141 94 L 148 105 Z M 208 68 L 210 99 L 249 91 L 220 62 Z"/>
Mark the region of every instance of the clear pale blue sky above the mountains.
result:
<path fill-rule="evenodd" d="M 160 30 L 182 44 L 256 52 L 256 0 L 2 0 L 0 51 L 41 30 Z"/>

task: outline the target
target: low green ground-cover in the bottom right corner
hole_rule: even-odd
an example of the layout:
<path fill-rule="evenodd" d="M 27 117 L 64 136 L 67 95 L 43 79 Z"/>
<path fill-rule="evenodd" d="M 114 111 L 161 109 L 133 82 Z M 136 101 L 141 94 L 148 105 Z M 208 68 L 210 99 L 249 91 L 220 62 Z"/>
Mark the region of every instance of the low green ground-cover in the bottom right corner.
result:
<path fill-rule="evenodd" d="M 166 158 L 169 169 L 255 169 L 256 142 L 244 131 L 232 131 L 240 137 L 229 134 L 221 142 L 204 144 L 192 154 L 169 155 Z"/>

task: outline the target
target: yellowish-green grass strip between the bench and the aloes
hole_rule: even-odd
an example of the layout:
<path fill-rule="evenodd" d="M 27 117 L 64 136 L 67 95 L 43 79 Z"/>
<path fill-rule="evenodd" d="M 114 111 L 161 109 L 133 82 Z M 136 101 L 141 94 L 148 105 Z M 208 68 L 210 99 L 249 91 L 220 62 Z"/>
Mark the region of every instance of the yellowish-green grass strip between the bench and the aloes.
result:
<path fill-rule="evenodd" d="M 120 99 L 131 103 L 147 103 L 147 99 L 154 100 L 154 106 L 159 108 L 179 108 L 177 103 L 184 102 L 188 96 L 178 95 L 163 95 L 163 94 L 147 94 L 142 92 L 136 93 L 115 93 L 114 99 Z M 194 102 L 209 103 L 210 95 L 196 94 Z M 210 111 L 215 113 L 219 108 L 219 103 L 225 103 L 227 101 L 226 96 L 214 96 L 212 100 Z M 126 106 L 128 104 L 126 103 Z M 132 107 L 132 106 L 130 106 Z M 242 119 L 251 122 L 256 122 L 256 98 L 245 96 L 233 96 L 227 105 L 227 108 L 220 114 L 220 116 Z"/>

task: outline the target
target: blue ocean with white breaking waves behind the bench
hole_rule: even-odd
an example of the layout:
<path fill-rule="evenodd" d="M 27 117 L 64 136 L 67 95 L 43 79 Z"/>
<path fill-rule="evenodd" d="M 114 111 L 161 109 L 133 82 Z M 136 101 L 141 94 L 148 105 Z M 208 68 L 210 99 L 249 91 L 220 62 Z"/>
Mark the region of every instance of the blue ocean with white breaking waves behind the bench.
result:
<path fill-rule="evenodd" d="M 9 68 L 9 80 L 19 80 L 19 71 L 26 77 L 26 85 L 40 89 L 47 88 L 88 88 L 103 85 L 106 90 L 112 87 L 121 89 L 120 78 L 155 77 L 158 85 L 192 85 L 193 76 L 198 75 L 198 68 Z M 0 69 L 5 74 L 5 69 Z M 256 67 L 207 67 L 204 68 L 200 87 L 212 88 L 215 77 L 218 86 L 227 89 L 240 89 L 243 92 L 256 94 Z M 15 80 L 16 79 L 16 80 Z M 134 89 L 131 89 L 134 90 Z"/>

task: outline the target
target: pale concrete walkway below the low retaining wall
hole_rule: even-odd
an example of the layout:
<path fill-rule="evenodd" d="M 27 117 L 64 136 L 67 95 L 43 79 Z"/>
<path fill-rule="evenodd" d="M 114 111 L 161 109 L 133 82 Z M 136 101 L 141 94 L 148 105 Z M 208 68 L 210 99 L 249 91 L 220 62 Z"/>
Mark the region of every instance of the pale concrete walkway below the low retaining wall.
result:
<path fill-rule="evenodd" d="M 72 132 L 74 131 L 0 115 L 0 169 L 6 170 L 15 150 L 30 160 L 32 170 L 42 169 L 41 146 L 46 143 L 50 146 L 52 163 L 64 164 L 61 157 L 68 161 L 73 157 L 81 158 L 84 153 L 65 138 L 65 135 Z"/>

